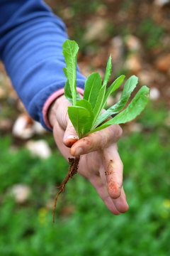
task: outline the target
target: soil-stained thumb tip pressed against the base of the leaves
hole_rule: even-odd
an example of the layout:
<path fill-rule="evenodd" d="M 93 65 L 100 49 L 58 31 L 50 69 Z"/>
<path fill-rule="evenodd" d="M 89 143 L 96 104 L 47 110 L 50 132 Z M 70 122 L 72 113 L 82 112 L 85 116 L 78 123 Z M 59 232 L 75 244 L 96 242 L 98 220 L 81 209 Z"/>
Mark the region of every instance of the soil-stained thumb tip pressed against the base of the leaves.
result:
<path fill-rule="evenodd" d="M 67 128 L 64 132 L 63 143 L 65 146 L 71 147 L 75 142 L 77 142 L 79 137 L 72 125 L 72 122 L 68 120 Z"/>

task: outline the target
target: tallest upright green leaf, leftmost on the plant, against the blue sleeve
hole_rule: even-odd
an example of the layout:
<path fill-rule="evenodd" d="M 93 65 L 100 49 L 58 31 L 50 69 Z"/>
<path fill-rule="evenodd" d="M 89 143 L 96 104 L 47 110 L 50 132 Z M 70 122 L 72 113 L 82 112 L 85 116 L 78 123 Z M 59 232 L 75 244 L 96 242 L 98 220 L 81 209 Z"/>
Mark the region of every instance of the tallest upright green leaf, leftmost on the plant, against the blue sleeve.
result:
<path fill-rule="evenodd" d="M 77 89 L 76 89 L 76 82 L 77 82 L 77 53 L 79 50 L 79 46 L 75 41 L 66 40 L 63 45 L 63 55 L 64 60 L 66 63 L 67 78 L 69 80 L 69 86 L 72 92 L 72 100 L 73 105 L 76 105 L 77 102 Z M 65 73 L 66 70 L 64 70 Z"/>

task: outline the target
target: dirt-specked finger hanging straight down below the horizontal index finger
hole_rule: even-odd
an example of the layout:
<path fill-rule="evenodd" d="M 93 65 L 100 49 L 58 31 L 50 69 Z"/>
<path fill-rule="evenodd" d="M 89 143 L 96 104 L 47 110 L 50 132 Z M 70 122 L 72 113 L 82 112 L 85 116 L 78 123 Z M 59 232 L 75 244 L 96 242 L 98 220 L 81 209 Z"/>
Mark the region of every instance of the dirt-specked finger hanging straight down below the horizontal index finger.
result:
<path fill-rule="evenodd" d="M 108 193 L 111 198 L 118 198 L 123 184 L 123 163 L 116 144 L 103 150 L 103 165 L 106 168 Z"/>

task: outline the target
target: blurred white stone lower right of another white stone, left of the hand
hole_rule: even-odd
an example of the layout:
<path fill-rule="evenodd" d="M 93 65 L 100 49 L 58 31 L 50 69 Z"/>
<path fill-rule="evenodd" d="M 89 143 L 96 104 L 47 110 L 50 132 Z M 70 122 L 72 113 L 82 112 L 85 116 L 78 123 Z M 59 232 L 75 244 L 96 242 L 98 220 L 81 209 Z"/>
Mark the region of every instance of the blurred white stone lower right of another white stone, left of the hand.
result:
<path fill-rule="evenodd" d="M 26 143 L 26 148 L 33 156 L 38 156 L 41 159 L 47 159 L 52 155 L 50 146 L 48 146 L 45 140 L 40 139 L 38 141 L 29 141 Z"/>

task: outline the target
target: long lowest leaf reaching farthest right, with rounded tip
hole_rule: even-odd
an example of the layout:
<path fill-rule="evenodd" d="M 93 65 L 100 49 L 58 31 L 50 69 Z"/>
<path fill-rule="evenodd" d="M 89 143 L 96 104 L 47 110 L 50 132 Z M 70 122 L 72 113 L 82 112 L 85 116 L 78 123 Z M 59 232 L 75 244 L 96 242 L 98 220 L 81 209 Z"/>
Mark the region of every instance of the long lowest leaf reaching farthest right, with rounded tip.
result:
<path fill-rule="evenodd" d="M 145 109 L 149 99 L 148 95 L 149 88 L 147 86 L 142 86 L 125 110 L 117 114 L 113 119 L 108 120 L 108 122 L 91 130 L 89 133 L 97 132 L 109 127 L 111 124 L 124 124 L 125 122 L 130 122 L 132 119 L 135 119 L 135 117 Z"/>

